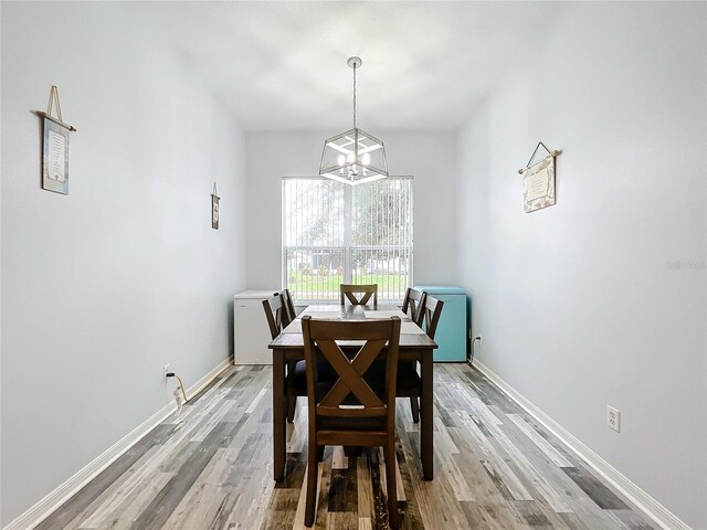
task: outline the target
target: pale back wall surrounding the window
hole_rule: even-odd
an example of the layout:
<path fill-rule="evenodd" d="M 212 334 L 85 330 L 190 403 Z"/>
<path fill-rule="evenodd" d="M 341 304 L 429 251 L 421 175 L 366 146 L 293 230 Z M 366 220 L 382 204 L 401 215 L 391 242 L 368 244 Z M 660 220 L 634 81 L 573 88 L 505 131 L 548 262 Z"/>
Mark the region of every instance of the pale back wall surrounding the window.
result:
<path fill-rule="evenodd" d="M 345 123 L 341 123 L 346 127 Z M 247 132 L 247 284 L 282 285 L 282 178 L 317 174 L 324 139 L 337 131 Z M 414 177 L 414 283 L 454 280 L 456 135 L 372 131 L 391 174 Z"/>

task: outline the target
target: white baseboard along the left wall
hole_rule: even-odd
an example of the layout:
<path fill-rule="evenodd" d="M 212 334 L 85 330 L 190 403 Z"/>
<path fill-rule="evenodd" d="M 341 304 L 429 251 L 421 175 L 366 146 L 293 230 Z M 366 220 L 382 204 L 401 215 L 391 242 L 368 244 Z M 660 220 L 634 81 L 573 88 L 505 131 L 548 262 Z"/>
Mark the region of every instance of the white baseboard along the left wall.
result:
<path fill-rule="evenodd" d="M 190 395 L 194 395 L 207 386 L 219 373 L 232 364 L 231 359 L 225 359 L 219 363 L 213 370 L 209 371 L 203 378 L 197 381 L 188 389 Z M 133 447 L 137 442 L 149 433 L 157 425 L 162 423 L 171 413 L 177 410 L 173 401 L 162 406 L 159 411 L 145 420 L 140 425 L 135 427 L 128 434 L 123 436 L 118 442 L 113 444 L 103 452 L 97 458 L 88 463 L 83 469 L 78 470 L 68 480 L 59 486 L 54 491 L 46 495 L 42 500 L 32 506 L 29 510 L 10 522 L 2 530 L 28 530 L 34 528 L 44 519 L 46 519 L 54 510 L 68 500 L 86 484 L 93 480 L 101 471 L 113 464 L 120 455 Z"/>

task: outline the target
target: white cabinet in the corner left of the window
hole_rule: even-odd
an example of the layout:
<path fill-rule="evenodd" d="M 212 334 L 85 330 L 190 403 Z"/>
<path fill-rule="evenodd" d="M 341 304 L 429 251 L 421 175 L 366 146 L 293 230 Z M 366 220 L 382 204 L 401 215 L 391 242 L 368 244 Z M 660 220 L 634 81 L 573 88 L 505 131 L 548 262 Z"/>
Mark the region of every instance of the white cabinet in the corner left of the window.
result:
<path fill-rule="evenodd" d="M 233 297 L 233 344 L 235 364 L 272 364 L 267 349 L 272 340 L 263 300 L 279 289 L 244 290 Z"/>

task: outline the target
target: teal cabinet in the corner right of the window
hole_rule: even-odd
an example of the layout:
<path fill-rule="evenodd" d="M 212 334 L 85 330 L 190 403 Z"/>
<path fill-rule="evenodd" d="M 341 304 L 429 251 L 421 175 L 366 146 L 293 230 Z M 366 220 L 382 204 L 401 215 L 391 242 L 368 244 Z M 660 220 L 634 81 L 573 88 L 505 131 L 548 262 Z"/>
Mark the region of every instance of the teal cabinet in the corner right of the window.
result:
<path fill-rule="evenodd" d="M 434 350 L 435 362 L 466 361 L 466 293 L 460 287 L 434 285 L 416 285 L 414 288 L 444 301 L 434 335 L 440 347 Z"/>

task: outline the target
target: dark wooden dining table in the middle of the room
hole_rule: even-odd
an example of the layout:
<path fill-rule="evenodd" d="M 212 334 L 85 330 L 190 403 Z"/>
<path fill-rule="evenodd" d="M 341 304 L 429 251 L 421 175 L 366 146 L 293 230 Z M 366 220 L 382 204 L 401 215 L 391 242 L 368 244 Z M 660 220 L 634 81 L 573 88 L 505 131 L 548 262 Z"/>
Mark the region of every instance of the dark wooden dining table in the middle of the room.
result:
<path fill-rule="evenodd" d="M 390 318 L 398 316 L 402 320 L 400 330 L 400 360 L 420 362 L 421 414 L 420 414 L 420 452 L 422 473 L 425 480 L 432 480 L 433 470 L 433 389 L 432 369 L 433 350 L 437 344 L 414 324 L 395 305 L 312 305 L 298 317 L 309 315 L 312 318 L 328 320 L 365 320 Z M 279 480 L 285 474 L 286 460 L 286 410 L 285 410 L 285 365 L 289 361 L 304 359 L 304 340 L 302 320 L 296 318 L 277 338 L 268 344 L 273 350 L 273 474 Z M 383 350 L 384 354 L 384 350 Z"/>

